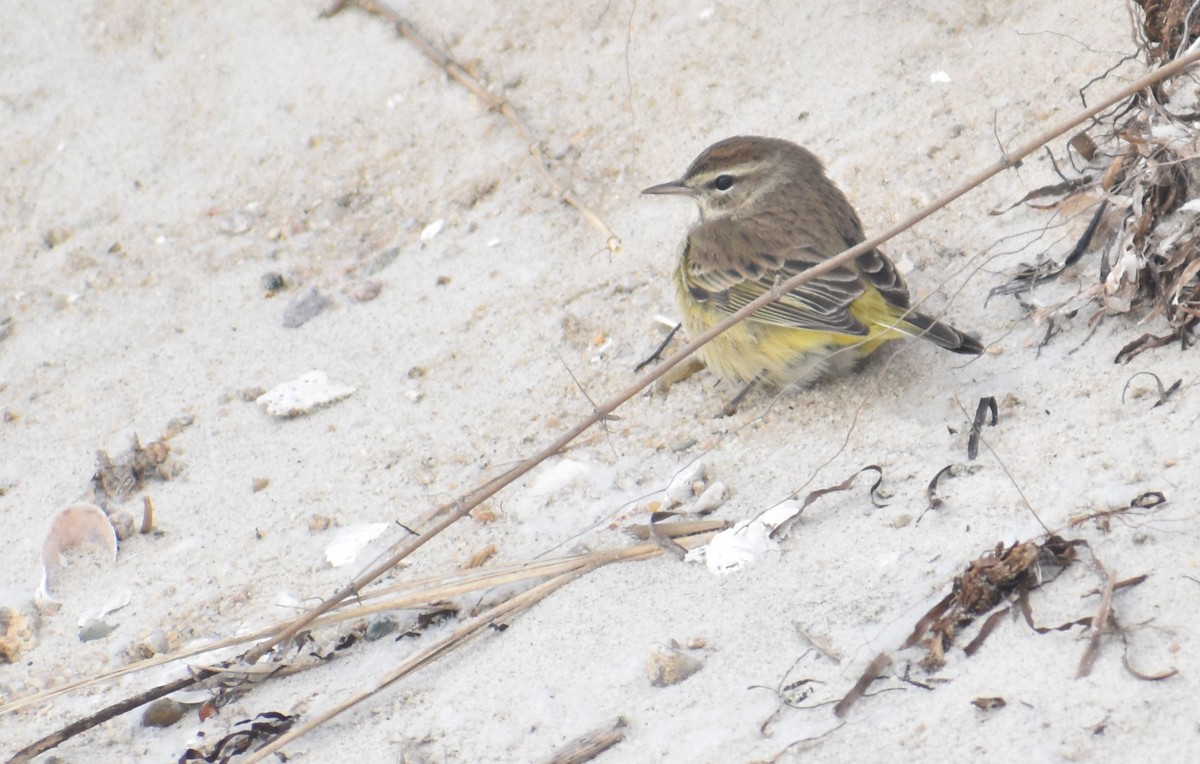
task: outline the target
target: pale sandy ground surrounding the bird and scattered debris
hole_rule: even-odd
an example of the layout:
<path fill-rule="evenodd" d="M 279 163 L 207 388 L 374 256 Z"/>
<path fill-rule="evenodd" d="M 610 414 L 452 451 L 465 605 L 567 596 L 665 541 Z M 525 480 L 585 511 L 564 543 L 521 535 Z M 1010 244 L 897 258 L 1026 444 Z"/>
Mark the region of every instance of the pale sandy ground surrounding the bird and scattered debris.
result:
<path fill-rule="evenodd" d="M 419 524 L 584 416 L 582 391 L 604 399 L 626 386 L 664 336 L 655 317 L 674 314 L 668 273 L 695 216 L 637 192 L 706 145 L 737 133 L 803 143 L 880 230 L 1076 110 L 1079 89 L 1133 46 L 1123 4 L 1082 0 L 412 5 L 428 38 L 523 112 L 558 180 L 623 252 L 554 198 L 511 125 L 378 18 L 320 20 L 319 4 L 262 1 L 0 11 L 0 318 L 12 327 L 0 342 L 0 604 L 36 630 L 0 666 L 0 699 L 120 666 L 155 632 L 191 645 L 286 618 L 361 567 L 326 563 L 338 533 Z M 1088 97 L 1138 72 L 1126 65 Z M 1051 149 L 1064 156 L 1063 140 Z M 494 519 L 458 523 L 389 579 L 449 574 L 488 545 L 490 565 L 629 546 L 616 522 L 644 519 L 697 457 L 731 489 L 721 519 L 868 464 L 883 469 L 886 506 L 859 479 L 731 576 L 667 557 L 601 569 L 288 746 L 289 759 L 546 760 L 618 716 L 626 739 L 600 762 L 757 760 L 815 736 L 784 760 L 1194 756 L 1196 359 L 1164 348 L 1114 365 L 1162 326 L 1118 318 L 1093 333 L 1090 309 L 1039 353 L 1043 324 L 1010 299 L 984 306 L 1009 269 L 1061 254 L 1086 222 L 1048 230 L 1058 221 L 1046 212 L 988 215 L 1056 180 L 1038 155 L 887 247 L 988 355 L 965 363 L 908 343 L 850 379 L 756 393 L 726 420 L 713 414 L 733 390 L 708 373 L 641 395 L 566 455 L 578 467 L 540 468 L 488 504 Z M 1096 267 L 1088 255 L 1034 296 L 1086 287 Z M 287 284 L 274 296 L 270 273 Z M 284 326 L 313 288 L 328 307 Z M 310 369 L 355 392 L 290 420 L 247 401 Z M 1141 371 L 1183 386 L 1163 407 L 1122 404 Z M 994 451 L 925 512 L 932 476 L 966 462 L 959 402 L 973 410 L 982 396 L 1000 401 L 985 432 Z M 77 566 L 55 590 L 62 609 L 38 619 L 46 529 L 88 497 L 96 452 L 126 450 L 133 433 L 155 440 L 179 417 L 192 423 L 169 441 L 178 474 L 110 507 L 140 513 L 149 495 L 161 533 L 124 542 L 115 564 Z M 1128 660 L 1176 676 L 1134 678 L 1108 636 L 1076 680 L 1084 630 L 1037 634 L 1020 618 L 972 657 L 968 630 L 934 673 L 898 651 L 970 560 L 1043 533 L 1025 500 L 1062 529 L 1147 491 L 1169 504 L 1064 533 L 1111 574 L 1148 574 L 1114 608 Z M 1102 578 L 1088 559 L 1034 594 L 1040 624 L 1094 612 Z M 82 643 L 80 614 L 121 592 L 115 631 Z M 334 705 L 454 625 L 360 644 L 204 722 L 192 710 L 148 729 L 128 714 L 56 754 L 174 760 L 240 718 Z M 646 661 L 671 639 L 695 645 L 703 668 L 654 687 Z M 880 652 L 895 662 L 872 692 L 889 691 L 839 726 L 827 702 Z M 906 667 L 913 684 L 900 680 Z M 0 756 L 182 670 L 0 716 Z M 764 688 L 800 679 L 812 680 L 806 708 Z M 980 697 L 1006 705 L 980 710 Z"/>

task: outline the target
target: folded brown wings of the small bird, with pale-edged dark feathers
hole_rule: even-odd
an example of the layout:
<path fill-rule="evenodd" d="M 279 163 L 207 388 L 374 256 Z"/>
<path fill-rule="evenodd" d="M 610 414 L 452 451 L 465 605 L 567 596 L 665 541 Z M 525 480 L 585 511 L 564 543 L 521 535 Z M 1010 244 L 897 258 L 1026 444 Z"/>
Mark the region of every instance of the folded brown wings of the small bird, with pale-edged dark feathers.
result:
<path fill-rule="evenodd" d="M 694 299 L 733 313 L 776 283 L 836 254 L 826 249 L 794 231 L 786 242 L 770 241 L 749 227 L 709 222 L 688 235 L 680 267 Z M 887 257 L 872 249 L 859 257 L 854 266 L 841 266 L 800 284 L 751 318 L 792 329 L 863 336 L 868 327 L 854 318 L 850 305 L 869 287 L 896 307 L 908 305 L 904 278 Z"/>

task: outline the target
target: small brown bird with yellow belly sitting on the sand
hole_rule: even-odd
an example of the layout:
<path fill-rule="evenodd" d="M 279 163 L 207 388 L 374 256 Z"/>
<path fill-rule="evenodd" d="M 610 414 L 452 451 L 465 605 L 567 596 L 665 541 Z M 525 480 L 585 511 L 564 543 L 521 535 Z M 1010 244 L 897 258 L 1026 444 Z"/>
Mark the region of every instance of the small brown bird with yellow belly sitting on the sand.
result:
<path fill-rule="evenodd" d="M 682 178 L 642 193 L 685 195 L 700 207 L 673 276 L 690 337 L 865 239 L 858 213 L 821 161 L 779 138 L 720 140 Z M 870 249 L 760 308 L 700 355 L 720 377 L 745 385 L 736 405 L 755 384 L 808 386 L 854 369 L 904 337 L 966 355 L 984 351 L 976 337 L 914 309 L 895 264 Z"/>

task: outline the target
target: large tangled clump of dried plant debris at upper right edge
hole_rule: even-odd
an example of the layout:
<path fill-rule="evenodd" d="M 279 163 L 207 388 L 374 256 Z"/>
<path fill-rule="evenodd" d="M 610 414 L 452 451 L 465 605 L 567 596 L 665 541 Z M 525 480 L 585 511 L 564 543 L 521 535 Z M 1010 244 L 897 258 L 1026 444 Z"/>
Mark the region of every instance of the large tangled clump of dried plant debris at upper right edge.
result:
<path fill-rule="evenodd" d="M 1138 30 L 1151 64 L 1172 60 L 1200 32 L 1190 0 L 1139 0 Z M 1092 209 L 1087 230 L 1061 259 L 1021 266 L 989 293 L 1020 295 L 1056 279 L 1088 251 L 1099 251 L 1097 278 L 1062 302 L 1039 306 L 1043 318 L 1094 306 L 1090 323 L 1134 313 L 1164 329 L 1130 341 L 1114 359 L 1168 344 L 1188 348 L 1200 329 L 1200 86 L 1183 73 L 1132 97 L 1070 139 L 1078 179 L 1031 192 L 1060 197 L 1057 212 Z M 1057 166 L 1056 166 L 1057 167 Z M 1027 305 L 1027 307 L 1034 307 Z"/>

